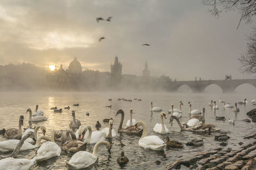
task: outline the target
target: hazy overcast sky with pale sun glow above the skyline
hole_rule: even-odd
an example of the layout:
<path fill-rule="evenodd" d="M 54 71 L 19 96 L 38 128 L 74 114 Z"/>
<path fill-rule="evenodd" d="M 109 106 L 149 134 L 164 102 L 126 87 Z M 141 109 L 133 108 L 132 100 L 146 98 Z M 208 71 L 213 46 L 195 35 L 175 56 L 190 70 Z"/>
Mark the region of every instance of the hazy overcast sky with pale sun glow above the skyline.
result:
<path fill-rule="evenodd" d="M 115 55 L 124 74 L 177 80 L 245 78 L 241 53 L 252 25 L 239 14 L 213 17 L 200 0 L 0 1 L 0 65 L 30 62 L 67 69 L 74 57 L 83 69 L 110 71 Z M 112 16 L 97 23 L 96 17 Z M 100 37 L 106 37 L 100 43 Z M 150 46 L 141 46 L 149 43 Z"/>

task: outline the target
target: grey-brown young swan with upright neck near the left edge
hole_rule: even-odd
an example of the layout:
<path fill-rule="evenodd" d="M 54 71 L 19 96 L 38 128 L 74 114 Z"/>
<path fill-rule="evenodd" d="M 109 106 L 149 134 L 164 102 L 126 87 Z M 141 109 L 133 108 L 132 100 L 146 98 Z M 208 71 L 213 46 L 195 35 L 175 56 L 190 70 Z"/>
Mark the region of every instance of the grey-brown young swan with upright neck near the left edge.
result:
<path fill-rule="evenodd" d="M 22 137 L 21 126 L 23 125 L 23 121 L 24 121 L 24 116 L 20 115 L 19 129 L 16 129 L 16 128 L 7 129 L 4 133 L 4 137 L 7 139 L 21 139 Z"/>

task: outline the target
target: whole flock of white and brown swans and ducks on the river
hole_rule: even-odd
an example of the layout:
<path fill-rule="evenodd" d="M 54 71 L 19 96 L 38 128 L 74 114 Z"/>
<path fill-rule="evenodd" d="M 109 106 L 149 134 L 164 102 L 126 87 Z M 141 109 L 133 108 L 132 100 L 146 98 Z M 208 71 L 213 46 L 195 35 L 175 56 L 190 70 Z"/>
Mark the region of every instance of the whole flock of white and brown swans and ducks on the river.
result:
<path fill-rule="evenodd" d="M 248 103 L 246 99 L 239 102 L 238 104 Z M 256 104 L 256 100 L 251 101 L 252 104 Z M 189 102 L 189 120 L 188 122 L 180 123 L 179 118 L 182 117 L 182 106 L 183 103 L 180 101 L 179 109 L 173 108 L 168 111 L 170 113 L 170 123 L 173 120 L 177 121 L 180 129 L 182 131 L 199 131 L 199 132 L 215 132 L 220 131 L 216 129 L 212 124 L 205 124 L 205 108 L 200 110 L 192 110 L 192 104 Z M 225 104 L 225 102 L 220 99 L 220 104 L 223 105 L 223 108 L 232 108 L 233 111 L 239 111 L 237 108 L 237 103 Z M 167 115 L 162 108 L 153 107 L 153 103 L 150 103 L 150 111 L 154 113 L 159 113 L 160 123 L 154 125 L 153 131 L 156 134 L 167 134 L 169 129 L 167 125 L 164 124 L 164 119 Z M 216 101 L 211 101 L 208 104 L 213 110 L 218 110 L 220 107 L 216 105 Z M 75 105 L 74 105 L 75 106 Z M 79 104 L 76 104 L 79 106 Z M 69 110 L 68 106 L 68 110 Z M 57 108 L 54 108 L 55 110 Z M 47 117 L 44 116 L 43 111 L 38 111 L 38 105 L 36 105 L 36 110 L 32 113 L 29 108 L 26 112 L 29 112 L 29 127 L 31 127 L 31 122 L 44 122 L 47 121 Z M 28 128 L 22 134 L 22 125 L 24 124 L 24 116 L 20 115 L 19 118 L 19 129 L 10 128 L 3 129 L 0 131 L 0 134 L 4 136 L 7 140 L 0 141 L 0 152 L 12 152 L 7 156 L 0 156 L 0 167 L 5 167 L 6 169 L 29 169 L 35 162 L 42 162 L 44 160 L 51 159 L 52 157 L 59 157 L 61 151 L 66 153 L 74 153 L 71 159 L 66 162 L 68 169 L 83 169 L 90 167 L 95 164 L 98 158 L 98 147 L 100 145 L 106 146 L 109 154 L 111 153 L 111 139 L 115 138 L 116 132 L 113 129 L 113 119 L 109 118 L 104 120 L 108 122 L 108 127 L 105 127 L 100 130 L 101 124 L 97 121 L 95 127 L 96 130 L 92 131 L 92 127 L 89 125 L 81 125 L 81 122 L 76 118 L 75 111 L 71 111 L 72 120 L 69 124 L 70 129 L 63 129 L 59 131 L 51 130 L 51 138 L 45 136 L 46 127 L 42 124 L 36 125 L 35 129 Z M 166 138 L 164 141 L 159 138 L 157 135 L 148 136 L 147 124 L 143 121 L 136 121 L 132 115 L 132 109 L 129 111 L 129 120 L 126 122 L 126 126 L 123 127 L 124 123 L 124 111 L 118 110 L 115 116 L 120 115 L 120 124 L 118 126 L 119 133 L 125 133 L 129 135 L 141 136 L 138 145 L 142 148 L 148 148 L 150 150 L 164 150 L 165 147 L 170 146 L 173 148 L 183 148 L 182 143 L 179 141 L 170 140 Z M 217 117 L 216 117 L 217 119 Z M 229 120 L 228 122 L 232 122 Z M 42 136 L 38 134 L 38 130 L 42 131 Z M 42 143 L 45 140 L 46 142 Z M 186 145 L 189 146 L 200 146 L 203 145 L 204 140 L 202 139 L 193 139 Z M 86 145 L 95 144 L 93 146 L 93 152 L 86 152 Z M 24 150 L 34 150 L 36 151 L 36 157 L 29 159 L 15 159 L 17 154 L 20 151 Z M 129 162 L 129 159 L 125 157 L 124 152 L 121 153 L 121 156 L 117 159 L 118 164 L 126 164 Z"/>

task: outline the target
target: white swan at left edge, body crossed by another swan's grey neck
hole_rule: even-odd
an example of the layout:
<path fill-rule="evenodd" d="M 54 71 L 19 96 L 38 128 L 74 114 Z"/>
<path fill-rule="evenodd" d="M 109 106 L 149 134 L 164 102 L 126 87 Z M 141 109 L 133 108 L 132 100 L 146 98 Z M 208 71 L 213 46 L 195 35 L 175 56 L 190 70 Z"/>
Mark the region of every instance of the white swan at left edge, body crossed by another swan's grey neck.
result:
<path fill-rule="evenodd" d="M 38 140 L 36 141 L 36 145 L 32 145 L 31 143 L 24 141 L 23 145 L 20 148 L 20 151 L 38 148 L 40 146 L 40 142 L 42 139 L 49 141 L 49 138 L 47 138 L 46 136 L 40 136 L 38 138 Z M 0 152 L 13 151 L 15 149 L 15 147 L 18 145 L 18 143 L 19 143 L 19 140 L 17 140 L 17 139 L 9 139 L 6 141 L 0 141 Z"/>

